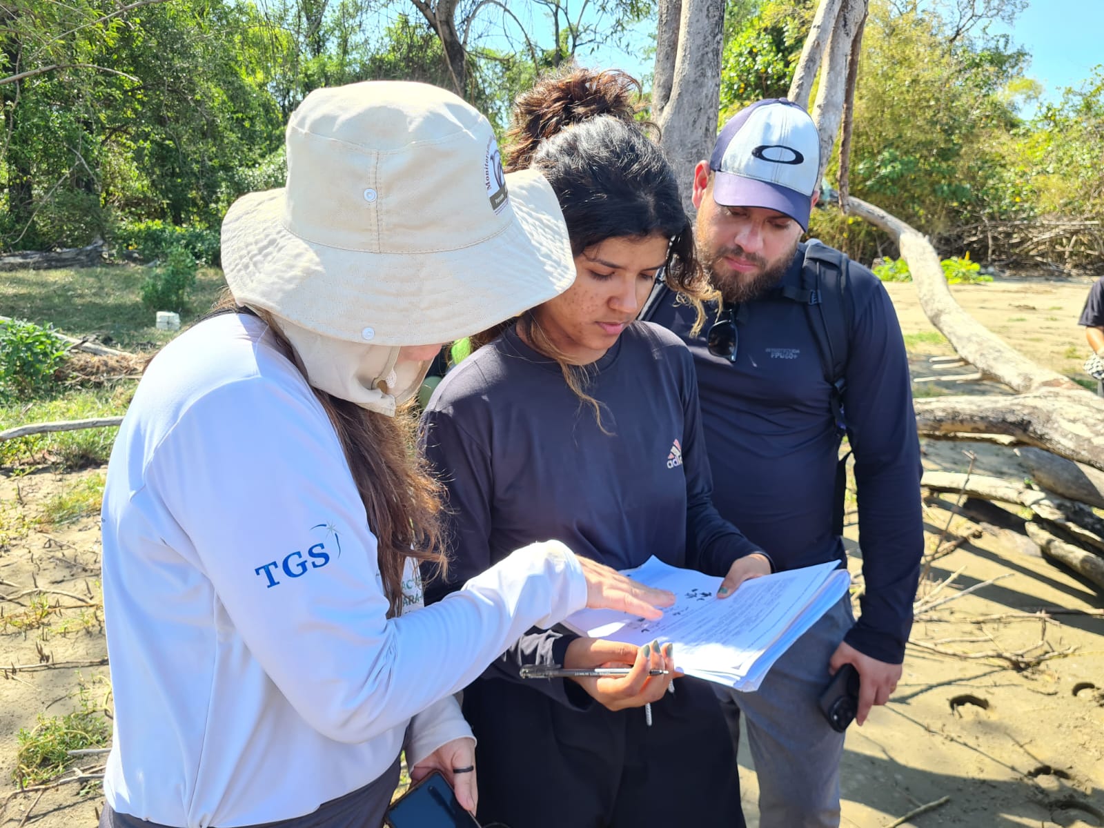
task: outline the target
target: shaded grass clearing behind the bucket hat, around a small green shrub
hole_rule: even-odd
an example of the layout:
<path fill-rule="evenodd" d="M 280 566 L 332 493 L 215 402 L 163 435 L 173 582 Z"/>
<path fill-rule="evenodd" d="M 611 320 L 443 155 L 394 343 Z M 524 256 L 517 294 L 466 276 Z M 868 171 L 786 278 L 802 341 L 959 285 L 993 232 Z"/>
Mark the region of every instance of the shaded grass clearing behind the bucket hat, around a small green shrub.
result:
<path fill-rule="evenodd" d="M 96 335 L 125 351 L 159 348 L 176 336 L 158 330 L 152 311 L 142 307 L 141 285 L 148 267 L 112 265 L 59 270 L 13 270 L 0 279 L 0 316 L 35 325 L 51 322 L 71 337 Z M 204 267 L 180 317 L 187 326 L 203 316 L 225 286 L 222 270 Z"/>

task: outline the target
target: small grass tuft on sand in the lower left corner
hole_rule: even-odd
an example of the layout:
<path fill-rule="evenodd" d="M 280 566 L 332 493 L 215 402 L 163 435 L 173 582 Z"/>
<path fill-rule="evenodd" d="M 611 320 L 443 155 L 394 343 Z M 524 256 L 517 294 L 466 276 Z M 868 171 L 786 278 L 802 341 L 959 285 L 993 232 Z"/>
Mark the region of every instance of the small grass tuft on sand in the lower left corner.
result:
<path fill-rule="evenodd" d="M 86 688 L 81 689 L 81 707 L 63 716 L 46 718 L 39 713 L 32 729 L 19 731 L 15 751 L 15 769 L 11 777 L 17 785 L 28 786 L 47 782 L 64 773 L 75 761 L 68 751 L 106 747 L 112 740 L 112 725 L 100 712 L 102 707 L 88 699 Z"/>

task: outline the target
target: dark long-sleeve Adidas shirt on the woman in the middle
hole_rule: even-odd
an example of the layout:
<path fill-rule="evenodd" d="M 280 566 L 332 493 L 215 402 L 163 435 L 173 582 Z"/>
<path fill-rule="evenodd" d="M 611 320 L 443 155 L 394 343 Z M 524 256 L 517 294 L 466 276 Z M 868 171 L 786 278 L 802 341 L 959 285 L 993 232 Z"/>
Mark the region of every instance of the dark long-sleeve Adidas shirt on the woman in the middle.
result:
<path fill-rule="evenodd" d="M 556 539 L 614 569 L 650 555 L 725 575 L 761 551 L 718 514 L 686 346 L 636 322 L 590 368 L 590 405 L 560 367 L 512 330 L 449 372 L 423 414 L 422 448 L 448 490 L 447 578 L 426 572 L 432 603 L 519 546 Z M 489 668 L 562 664 L 570 637 L 532 630 Z M 526 682 L 569 702 L 562 681 Z"/>

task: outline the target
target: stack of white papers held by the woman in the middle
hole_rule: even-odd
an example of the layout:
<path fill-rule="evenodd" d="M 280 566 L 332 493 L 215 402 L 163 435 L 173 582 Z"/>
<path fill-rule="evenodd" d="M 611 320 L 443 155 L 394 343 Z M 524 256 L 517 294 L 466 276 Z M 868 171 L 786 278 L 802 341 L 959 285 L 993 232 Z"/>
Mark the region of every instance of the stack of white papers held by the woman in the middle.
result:
<path fill-rule="evenodd" d="M 719 599 L 723 578 L 683 570 L 652 556 L 623 574 L 669 590 L 673 606 L 647 620 L 613 609 L 581 609 L 563 622 L 572 631 L 644 646 L 675 644 L 676 665 L 688 676 L 756 690 L 771 666 L 848 590 L 851 577 L 836 561 L 776 572 L 741 584 Z"/>

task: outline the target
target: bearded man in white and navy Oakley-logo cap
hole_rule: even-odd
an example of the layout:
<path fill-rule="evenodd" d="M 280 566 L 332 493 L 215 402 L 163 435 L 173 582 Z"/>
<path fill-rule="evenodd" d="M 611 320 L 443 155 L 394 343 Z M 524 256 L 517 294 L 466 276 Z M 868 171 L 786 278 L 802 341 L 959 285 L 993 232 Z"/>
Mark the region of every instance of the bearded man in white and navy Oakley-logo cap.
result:
<path fill-rule="evenodd" d="M 692 310 L 667 291 L 648 317 L 693 352 L 718 510 L 779 570 L 846 560 L 834 527 L 840 414 L 854 453 L 864 578 L 858 622 L 845 596 L 758 691 L 719 691 L 734 737 L 741 713 L 746 721 L 763 828 L 839 825 L 843 734 L 828 725 L 818 698 L 830 673 L 850 662 L 861 678 L 859 724 L 889 699 L 923 549 L 909 364 L 889 296 L 870 270 L 840 259 L 847 361 L 834 386 L 821 359 L 831 340 L 814 329 L 820 320 L 806 307 L 817 291 L 802 291 L 809 284 L 803 269 L 817 266 L 799 240 L 818 167 L 816 126 L 800 107 L 762 100 L 729 120 L 712 158 L 693 171 L 699 257 L 723 297 L 709 308 L 718 321 L 692 335 Z M 819 311 L 840 312 L 842 302 Z"/>

